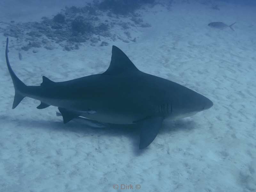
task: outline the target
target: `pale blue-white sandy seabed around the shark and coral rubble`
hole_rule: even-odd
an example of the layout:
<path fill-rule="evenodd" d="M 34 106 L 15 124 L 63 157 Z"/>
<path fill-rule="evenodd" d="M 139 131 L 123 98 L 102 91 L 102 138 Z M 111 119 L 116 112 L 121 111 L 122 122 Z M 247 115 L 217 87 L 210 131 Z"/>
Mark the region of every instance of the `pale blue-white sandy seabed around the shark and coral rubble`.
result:
<path fill-rule="evenodd" d="M 200 4 L 175 5 L 171 12 L 149 9 L 143 19 L 152 27 L 137 29 L 137 43 L 84 45 L 70 52 L 42 48 L 22 52 L 20 61 L 10 38 L 11 65 L 28 85 L 39 85 L 42 75 L 65 81 L 101 73 L 115 44 L 140 70 L 213 101 L 195 116 L 164 121 L 143 151 L 138 131 L 130 127 L 63 124 L 56 107 L 38 110 L 39 101 L 29 98 L 11 109 L 14 89 L 5 63 L 6 37 L 0 34 L 0 191 L 255 191 L 256 12 L 220 5 L 220 11 Z M 237 21 L 236 31 L 209 28 L 212 21 Z M 122 190 L 121 184 L 134 189 Z"/>

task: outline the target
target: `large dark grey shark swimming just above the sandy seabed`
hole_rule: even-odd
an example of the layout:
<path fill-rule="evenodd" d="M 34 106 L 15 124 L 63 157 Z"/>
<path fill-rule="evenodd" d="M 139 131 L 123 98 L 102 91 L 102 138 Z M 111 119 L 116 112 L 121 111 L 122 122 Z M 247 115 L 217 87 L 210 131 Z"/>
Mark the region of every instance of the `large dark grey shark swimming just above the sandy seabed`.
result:
<path fill-rule="evenodd" d="M 12 108 L 30 97 L 41 101 L 38 109 L 58 107 L 64 123 L 80 116 L 103 126 L 137 124 L 140 149 L 156 138 L 164 119 L 192 116 L 213 105 L 187 87 L 140 71 L 116 46 L 112 46 L 111 62 L 104 73 L 63 82 L 43 76 L 40 86 L 28 86 L 15 75 L 8 59 L 8 38 L 5 57 L 15 89 Z"/>

